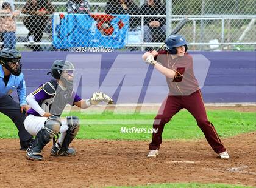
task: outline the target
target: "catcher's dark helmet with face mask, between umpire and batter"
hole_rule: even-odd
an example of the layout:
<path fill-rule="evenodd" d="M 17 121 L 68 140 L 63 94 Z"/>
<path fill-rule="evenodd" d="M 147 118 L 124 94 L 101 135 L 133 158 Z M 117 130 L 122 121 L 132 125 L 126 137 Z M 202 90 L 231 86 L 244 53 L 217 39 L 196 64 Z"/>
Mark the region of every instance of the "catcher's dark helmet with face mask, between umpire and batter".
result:
<path fill-rule="evenodd" d="M 51 75 L 55 79 L 63 78 L 67 86 L 73 86 L 73 80 L 68 80 L 62 76 L 63 70 L 74 70 L 74 65 L 69 61 L 56 60 L 52 64 Z"/>

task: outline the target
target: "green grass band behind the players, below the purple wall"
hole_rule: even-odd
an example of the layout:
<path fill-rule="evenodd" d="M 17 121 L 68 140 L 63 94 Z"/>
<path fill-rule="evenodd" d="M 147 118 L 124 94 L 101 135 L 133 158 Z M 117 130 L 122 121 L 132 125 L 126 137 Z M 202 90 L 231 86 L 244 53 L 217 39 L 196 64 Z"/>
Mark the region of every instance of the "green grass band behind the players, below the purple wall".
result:
<path fill-rule="evenodd" d="M 69 115 L 82 119 L 77 139 L 126 139 L 149 140 L 151 133 L 121 133 L 121 127 L 137 127 L 148 130 L 155 117 L 151 115 L 113 115 L 104 112 L 99 115 L 71 112 Z M 256 115 L 254 112 L 236 112 L 233 110 L 209 110 L 208 119 L 213 123 L 222 138 L 240 133 L 256 131 Z M 0 114 L 0 138 L 18 138 L 17 129 L 7 116 Z M 95 122 L 98 121 L 98 122 Z M 133 121 L 132 123 L 130 123 Z M 144 121 L 144 122 L 143 122 Z M 146 123 L 145 123 L 146 122 Z M 181 110 L 166 124 L 163 139 L 201 139 L 204 134 L 187 110 Z"/>

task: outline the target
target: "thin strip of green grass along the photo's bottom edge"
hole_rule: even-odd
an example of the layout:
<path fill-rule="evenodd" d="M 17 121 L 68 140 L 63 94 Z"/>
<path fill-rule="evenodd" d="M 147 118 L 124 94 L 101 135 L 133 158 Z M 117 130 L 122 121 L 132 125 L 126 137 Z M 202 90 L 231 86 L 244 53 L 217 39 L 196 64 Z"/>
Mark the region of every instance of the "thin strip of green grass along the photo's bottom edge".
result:
<path fill-rule="evenodd" d="M 147 186 L 134 186 L 132 188 L 244 188 L 249 186 L 237 186 L 229 184 L 200 184 L 200 183 L 172 183 L 172 184 L 152 184 Z M 108 187 L 110 188 L 110 187 Z M 111 187 L 111 188 L 127 188 L 127 187 Z"/>

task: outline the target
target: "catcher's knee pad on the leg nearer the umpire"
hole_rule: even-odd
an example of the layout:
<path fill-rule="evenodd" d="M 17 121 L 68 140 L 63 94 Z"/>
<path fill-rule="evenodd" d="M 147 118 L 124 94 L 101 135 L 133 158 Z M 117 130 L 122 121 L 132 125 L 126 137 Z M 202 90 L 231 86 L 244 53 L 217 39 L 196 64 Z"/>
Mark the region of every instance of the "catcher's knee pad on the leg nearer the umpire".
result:
<path fill-rule="evenodd" d="M 62 121 L 58 116 L 51 116 L 44 123 L 43 129 L 45 129 L 51 135 L 51 138 L 53 138 L 54 135 L 59 133 L 61 125 Z"/>

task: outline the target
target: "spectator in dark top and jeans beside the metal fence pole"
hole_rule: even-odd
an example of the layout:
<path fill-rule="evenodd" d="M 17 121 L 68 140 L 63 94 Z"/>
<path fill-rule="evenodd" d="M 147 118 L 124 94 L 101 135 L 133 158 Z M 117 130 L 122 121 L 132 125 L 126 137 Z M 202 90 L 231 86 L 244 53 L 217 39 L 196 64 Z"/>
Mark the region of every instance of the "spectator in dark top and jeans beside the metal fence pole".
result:
<path fill-rule="evenodd" d="M 161 0 L 147 0 L 140 9 L 141 15 L 166 15 L 165 6 Z M 165 18 L 146 17 L 144 18 L 144 41 L 163 42 L 165 41 Z"/>

